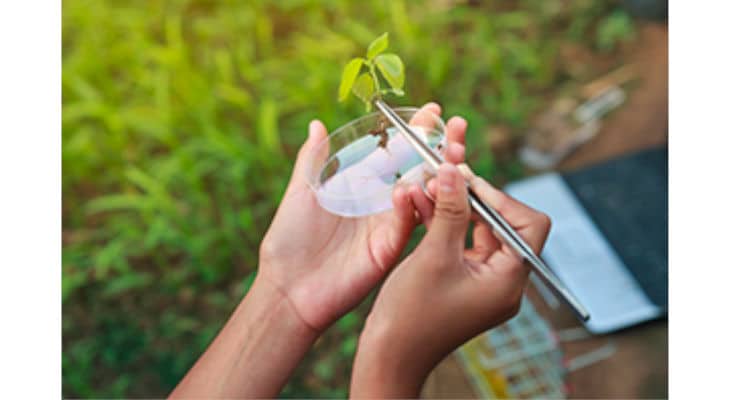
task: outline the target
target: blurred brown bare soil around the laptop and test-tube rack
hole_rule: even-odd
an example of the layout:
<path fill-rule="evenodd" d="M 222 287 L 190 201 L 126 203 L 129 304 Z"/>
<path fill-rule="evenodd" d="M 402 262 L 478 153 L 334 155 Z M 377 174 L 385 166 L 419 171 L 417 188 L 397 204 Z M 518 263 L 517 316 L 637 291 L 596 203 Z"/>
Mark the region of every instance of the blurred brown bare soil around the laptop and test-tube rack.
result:
<path fill-rule="evenodd" d="M 565 159 L 559 169 L 570 170 L 631 151 L 667 142 L 668 31 L 666 24 L 644 23 L 626 62 L 637 67 L 639 84 L 628 101 L 604 121 L 601 132 Z M 570 313 L 550 312 L 532 290 L 528 295 L 554 327 L 578 322 Z M 666 398 L 667 320 L 653 321 L 615 334 L 563 346 L 567 357 L 596 348 L 609 340 L 617 345 L 610 359 L 570 374 L 575 398 Z M 456 358 L 449 356 L 431 374 L 423 390 L 426 398 L 471 398 L 475 392 Z"/>

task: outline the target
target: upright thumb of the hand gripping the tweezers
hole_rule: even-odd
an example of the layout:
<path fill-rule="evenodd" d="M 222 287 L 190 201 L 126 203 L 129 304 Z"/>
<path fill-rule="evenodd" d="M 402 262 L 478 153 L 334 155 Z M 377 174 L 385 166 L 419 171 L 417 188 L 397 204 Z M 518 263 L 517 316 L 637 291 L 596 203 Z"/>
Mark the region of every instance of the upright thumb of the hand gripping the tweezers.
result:
<path fill-rule="evenodd" d="M 453 164 L 444 163 L 439 167 L 437 183 L 436 207 L 426 238 L 432 245 L 461 251 L 471 214 L 464 177 Z"/>

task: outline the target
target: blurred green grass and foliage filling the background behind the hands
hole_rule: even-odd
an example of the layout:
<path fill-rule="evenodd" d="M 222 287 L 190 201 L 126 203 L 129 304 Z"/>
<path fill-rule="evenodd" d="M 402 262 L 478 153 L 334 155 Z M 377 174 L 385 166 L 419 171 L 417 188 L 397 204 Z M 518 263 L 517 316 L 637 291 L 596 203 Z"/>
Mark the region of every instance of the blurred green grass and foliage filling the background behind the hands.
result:
<path fill-rule="evenodd" d="M 521 169 L 490 156 L 489 127 L 526 126 L 566 79 L 561 43 L 622 40 L 614 12 L 559 0 L 65 0 L 64 397 L 174 387 L 251 284 L 308 121 L 334 128 L 361 113 L 337 102 L 337 85 L 376 35 L 389 31 L 408 66 L 400 102 L 464 116 L 474 168 L 504 181 Z M 317 341 L 285 396 L 346 396 L 365 312 Z"/>

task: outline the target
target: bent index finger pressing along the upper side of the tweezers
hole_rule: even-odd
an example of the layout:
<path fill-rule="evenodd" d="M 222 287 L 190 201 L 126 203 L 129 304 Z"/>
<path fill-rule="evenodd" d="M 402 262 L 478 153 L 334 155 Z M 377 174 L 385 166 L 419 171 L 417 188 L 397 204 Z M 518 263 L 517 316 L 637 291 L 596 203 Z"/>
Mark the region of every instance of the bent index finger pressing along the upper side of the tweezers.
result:
<path fill-rule="evenodd" d="M 472 176 L 469 184 L 477 196 L 500 213 L 535 252 L 542 250 L 550 231 L 550 218 L 547 215 L 497 190 L 479 176 Z"/>

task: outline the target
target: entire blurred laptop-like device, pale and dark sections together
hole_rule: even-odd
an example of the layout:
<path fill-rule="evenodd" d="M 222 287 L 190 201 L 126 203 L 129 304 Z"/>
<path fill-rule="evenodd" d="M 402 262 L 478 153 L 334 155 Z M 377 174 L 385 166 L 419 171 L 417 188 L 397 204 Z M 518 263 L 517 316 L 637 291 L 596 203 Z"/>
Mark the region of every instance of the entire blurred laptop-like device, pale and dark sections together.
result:
<path fill-rule="evenodd" d="M 553 220 L 542 256 L 583 303 L 591 332 L 667 311 L 667 149 L 507 186 Z"/>

